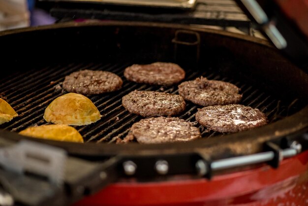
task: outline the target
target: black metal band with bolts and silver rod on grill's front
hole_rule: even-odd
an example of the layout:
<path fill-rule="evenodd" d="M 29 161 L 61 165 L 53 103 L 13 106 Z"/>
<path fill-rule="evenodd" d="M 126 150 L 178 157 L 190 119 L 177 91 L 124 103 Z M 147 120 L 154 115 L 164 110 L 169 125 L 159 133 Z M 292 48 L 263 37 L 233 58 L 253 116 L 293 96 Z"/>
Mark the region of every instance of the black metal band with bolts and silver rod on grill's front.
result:
<path fill-rule="evenodd" d="M 303 137 L 306 140 L 303 140 Z M 303 149 L 307 149 L 308 135 L 291 137 L 288 141 L 286 137 L 276 139 L 275 142 L 265 142 L 265 152 L 237 156 L 226 159 L 211 161 L 206 154 L 187 153 L 177 155 L 161 156 L 124 156 L 120 164 L 123 174 L 133 177 L 154 177 L 155 175 L 166 174 L 197 174 L 208 179 L 212 178 L 212 172 L 236 167 L 248 166 L 258 163 L 269 163 L 273 168 L 279 167 L 279 163 L 284 158 L 293 157 Z M 301 139 L 301 140 L 299 140 Z M 281 142 L 286 141 L 281 148 Z M 302 146 L 304 145 L 304 146 Z"/>

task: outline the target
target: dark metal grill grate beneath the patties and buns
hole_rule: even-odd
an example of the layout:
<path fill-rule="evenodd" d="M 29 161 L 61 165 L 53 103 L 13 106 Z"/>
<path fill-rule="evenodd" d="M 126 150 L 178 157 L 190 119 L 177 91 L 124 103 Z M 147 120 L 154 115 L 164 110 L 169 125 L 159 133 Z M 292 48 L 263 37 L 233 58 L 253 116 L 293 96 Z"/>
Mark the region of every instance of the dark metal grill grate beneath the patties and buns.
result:
<path fill-rule="evenodd" d="M 102 118 L 100 121 L 87 125 L 76 126 L 75 128 L 84 137 L 85 141 L 115 142 L 117 138 L 123 138 L 128 133 L 130 126 L 142 117 L 131 114 L 122 106 L 122 97 L 133 90 L 163 91 L 178 94 L 177 85 L 172 87 L 151 86 L 129 82 L 123 76 L 123 70 L 136 63 L 133 60 L 123 60 L 117 63 L 74 63 L 53 65 L 43 69 L 32 69 L 25 72 L 17 72 L 13 75 L 3 77 L 0 80 L 0 96 L 5 99 L 19 114 L 11 122 L 2 124 L 0 128 L 19 132 L 30 126 L 48 124 L 43 119 L 46 106 L 57 97 L 66 94 L 61 85 L 65 75 L 82 69 L 112 71 L 123 79 L 123 88 L 117 92 L 92 95 L 89 98 L 99 109 Z M 266 91 L 254 85 L 248 84 L 243 79 L 233 79 L 223 76 L 214 69 L 186 70 L 185 80 L 192 80 L 199 76 L 208 79 L 223 80 L 231 82 L 241 88 L 243 94 L 242 104 L 259 108 L 267 116 L 270 122 L 287 116 L 290 110 L 290 103 L 283 103 L 277 100 Z M 291 104 L 292 105 L 292 104 Z M 186 110 L 180 118 L 186 121 L 195 122 L 197 108 L 202 106 L 186 102 Z M 293 111 L 294 112 L 294 111 Z M 196 123 L 200 128 L 202 137 L 216 137 L 224 134 L 206 130 Z"/>

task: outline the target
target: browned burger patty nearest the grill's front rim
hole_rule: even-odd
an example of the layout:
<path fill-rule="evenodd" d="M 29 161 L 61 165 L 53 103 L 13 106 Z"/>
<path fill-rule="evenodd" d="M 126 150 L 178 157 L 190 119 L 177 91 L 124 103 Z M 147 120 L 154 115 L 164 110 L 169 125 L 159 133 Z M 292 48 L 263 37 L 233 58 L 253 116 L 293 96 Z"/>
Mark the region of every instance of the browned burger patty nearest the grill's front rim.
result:
<path fill-rule="evenodd" d="M 198 128 L 190 122 L 185 122 L 177 117 L 152 117 L 142 119 L 132 125 L 129 134 L 124 138 L 136 138 L 139 143 L 165 143 L 177 141 L 190 141 L 200 138 Z"/>

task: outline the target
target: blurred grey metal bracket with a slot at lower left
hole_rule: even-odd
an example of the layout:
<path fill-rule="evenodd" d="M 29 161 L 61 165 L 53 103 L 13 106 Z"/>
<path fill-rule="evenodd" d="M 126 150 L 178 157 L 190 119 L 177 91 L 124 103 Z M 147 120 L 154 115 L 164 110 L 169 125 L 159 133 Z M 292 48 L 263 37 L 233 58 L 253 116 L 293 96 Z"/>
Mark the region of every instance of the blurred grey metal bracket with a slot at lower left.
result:
<path fill-rule="evenodd" d="M 63 183 L 65 161 L 65 150 L 33 141 L 22 140 L 0 148 L 0 165 L 6 170 L 45 176 L 59 186 Z"/>

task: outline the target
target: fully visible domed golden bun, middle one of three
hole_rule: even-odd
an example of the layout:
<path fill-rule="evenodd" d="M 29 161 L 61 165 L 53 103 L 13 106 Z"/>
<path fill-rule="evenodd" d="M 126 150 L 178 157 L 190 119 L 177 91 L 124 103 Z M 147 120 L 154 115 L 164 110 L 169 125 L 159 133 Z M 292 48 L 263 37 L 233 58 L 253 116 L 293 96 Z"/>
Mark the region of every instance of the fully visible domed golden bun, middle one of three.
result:
<path fill-rule="evenodd" d="M 80 94 L 68 93 L 50 103 L 45 109 L 47 122 L 64 125 L 89 125 L 101 115 L 92 101 Z"/>

